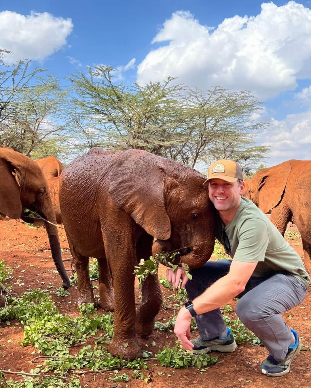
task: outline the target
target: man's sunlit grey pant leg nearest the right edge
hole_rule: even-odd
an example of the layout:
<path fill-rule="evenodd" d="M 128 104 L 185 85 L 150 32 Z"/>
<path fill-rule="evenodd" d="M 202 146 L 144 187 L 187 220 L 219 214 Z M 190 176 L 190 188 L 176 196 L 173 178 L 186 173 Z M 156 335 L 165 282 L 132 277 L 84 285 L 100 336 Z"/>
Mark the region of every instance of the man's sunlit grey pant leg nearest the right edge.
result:
<path fill-rule="evenodd" d="M 285 358 L 293 334 L 280 313 L 301 303 L 307 288 L 292 275 L 276 274 L 248 291 L 238 301 L 236 314 L 262 341 L 274 359 Z"/>

